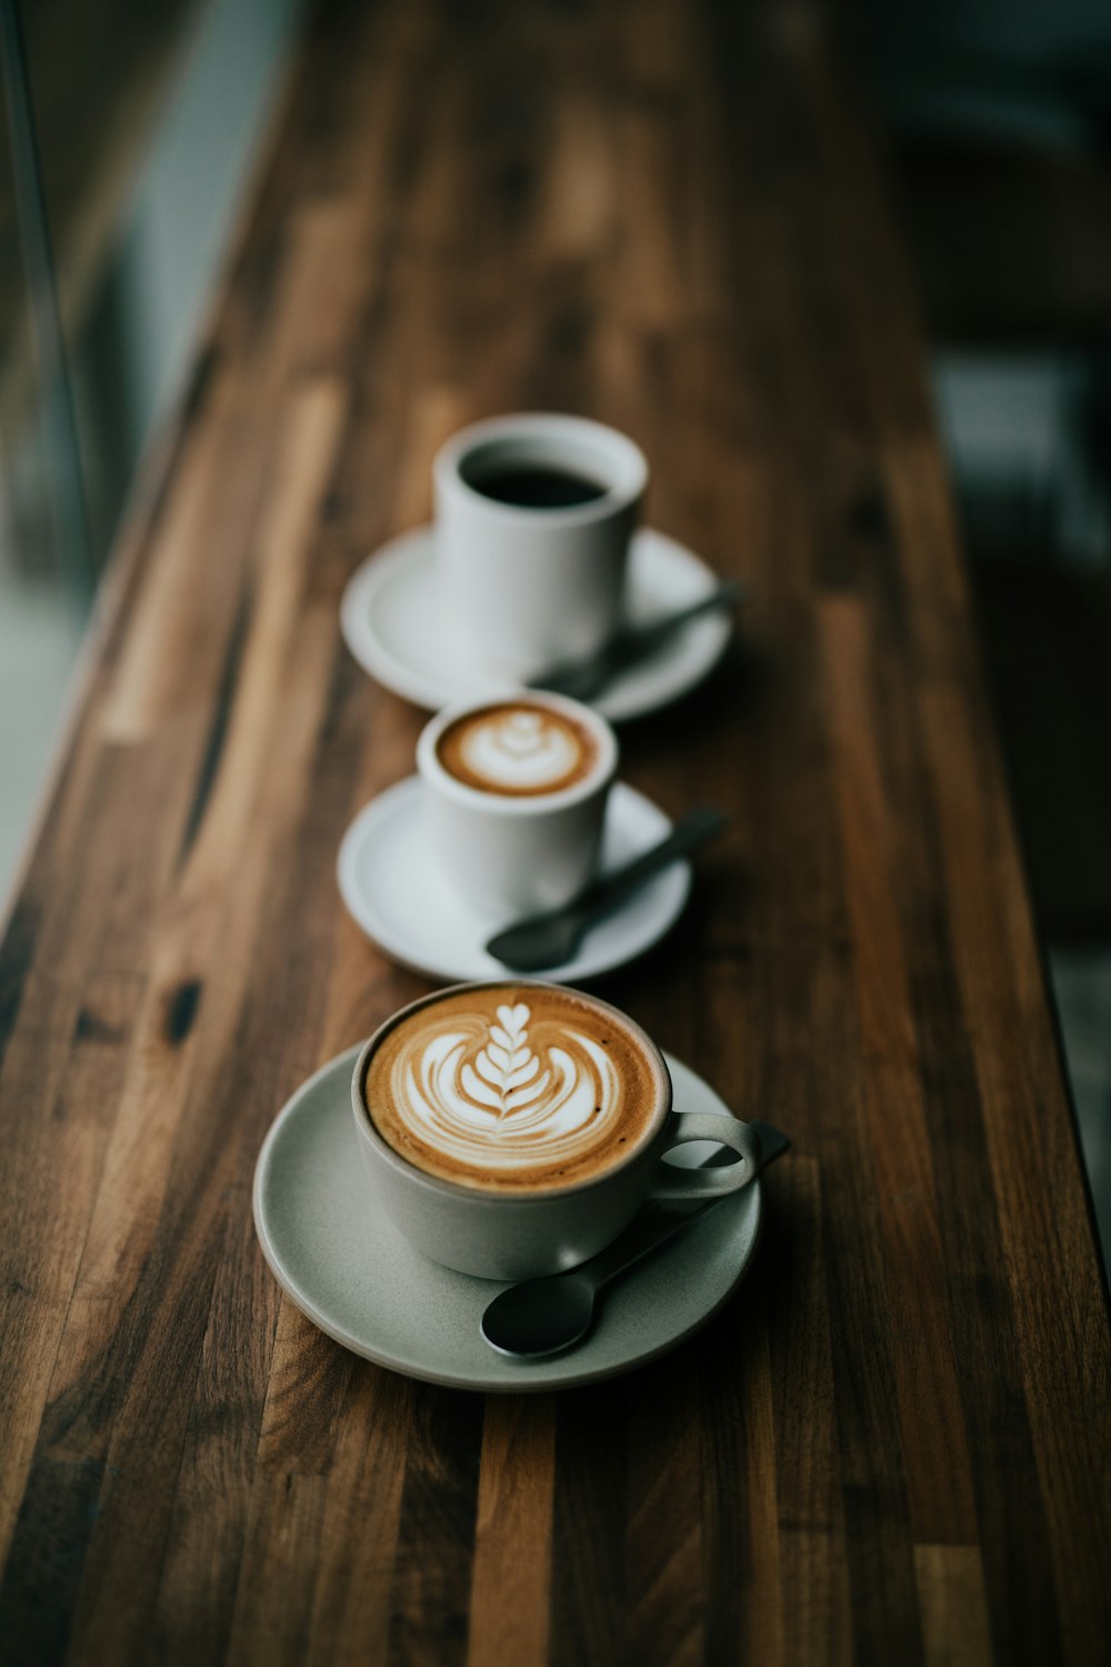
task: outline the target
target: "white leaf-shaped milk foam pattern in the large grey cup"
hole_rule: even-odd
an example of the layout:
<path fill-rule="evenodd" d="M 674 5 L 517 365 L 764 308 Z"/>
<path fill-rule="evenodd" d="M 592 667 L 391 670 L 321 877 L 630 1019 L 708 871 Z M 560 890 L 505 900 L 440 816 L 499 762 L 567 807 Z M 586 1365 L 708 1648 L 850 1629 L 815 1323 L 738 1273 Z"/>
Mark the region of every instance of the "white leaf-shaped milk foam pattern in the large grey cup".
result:
<path fill-rule="evenodd" d="M 605 1140 L 621 1110 L 605 1047 L 543 1019 L 530 1035 L 531 1017 L 516 1002 L 493 1020 L 453 1012 L 443 1027 L 416 1029 L 391 1072 L 411 1134 L 471 1169 L 501 1172 L 570 1162 Z"/>

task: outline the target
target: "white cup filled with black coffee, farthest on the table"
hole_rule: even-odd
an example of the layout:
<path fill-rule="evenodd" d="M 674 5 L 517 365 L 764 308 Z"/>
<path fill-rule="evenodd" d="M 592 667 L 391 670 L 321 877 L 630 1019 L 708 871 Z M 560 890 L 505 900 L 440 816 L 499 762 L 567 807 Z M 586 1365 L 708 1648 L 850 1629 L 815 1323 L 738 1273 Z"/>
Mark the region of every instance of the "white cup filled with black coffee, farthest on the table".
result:
<path fill-rule="evenodd" d="M 441 447 L 433 483 L 446 608 L 491 670 L 526 680 L 613 635 L 640 447 L 583 417 L 496 417 Z"/>

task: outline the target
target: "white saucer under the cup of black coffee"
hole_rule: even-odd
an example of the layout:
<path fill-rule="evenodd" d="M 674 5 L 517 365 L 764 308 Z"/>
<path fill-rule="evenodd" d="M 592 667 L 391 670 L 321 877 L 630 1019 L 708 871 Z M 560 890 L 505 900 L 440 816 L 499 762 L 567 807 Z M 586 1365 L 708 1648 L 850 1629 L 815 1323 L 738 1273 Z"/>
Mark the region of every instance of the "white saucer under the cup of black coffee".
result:
<path fill-rule="evenodd" d="M 505 688 L 445 618 L 435 577 L 435 528 L 401 533 L 368 557 L 343 592 L 340 623 L 348 648 L 380 683 L 438 712 L 455 700 Z M 636 623 L 696 602 L 718 575 L 685 545 L 645 528 L 633 535 L 628 618 Z M 593 703 L 616 722 L 678 700 L 706 677 L 730 640 L 728 612 L 708 613 L 675 632 L 638 665 L 621 672 Z"/>

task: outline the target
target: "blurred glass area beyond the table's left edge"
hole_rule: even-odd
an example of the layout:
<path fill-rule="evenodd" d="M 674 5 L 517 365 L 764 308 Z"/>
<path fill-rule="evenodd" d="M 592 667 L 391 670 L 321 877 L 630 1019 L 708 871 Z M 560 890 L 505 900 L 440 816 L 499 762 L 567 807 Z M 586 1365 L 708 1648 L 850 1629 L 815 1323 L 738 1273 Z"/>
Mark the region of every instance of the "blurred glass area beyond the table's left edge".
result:
<path fill-rule="evenodd" d="M 298 0 L 0 0 L 0 917 L 296 20 Z"/>

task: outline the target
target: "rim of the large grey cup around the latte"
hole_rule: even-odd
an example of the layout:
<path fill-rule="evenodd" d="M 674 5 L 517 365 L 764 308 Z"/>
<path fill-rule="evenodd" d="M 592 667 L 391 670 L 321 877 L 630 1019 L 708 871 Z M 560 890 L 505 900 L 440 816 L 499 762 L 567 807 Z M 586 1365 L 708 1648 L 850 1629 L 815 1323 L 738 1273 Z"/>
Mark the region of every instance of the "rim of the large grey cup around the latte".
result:
<path fill-rule="evenodd" d="M 396 1152 L 381 1134 L 378 1134 L 366 1104 L 365 1082 L 370 1060 L 380 1044 L 385 1042 L 386 1035 L 395 1030 L 401 1020 L 408 1019 L 410 1014 L 418 1012 L 421 1007 L 430 1007 L 433 1002 L 441 1002 L 448 995 L 458 995 L 463 990 L 493 990 L 506 987 L 515 990 L 560 990 L 576 1000 L 601 1007 L 633 1032 L 653 1060 L 660 1077 L 660 1107 L 656 1109 L 653 1124 L 648 1134 L 631 1149 L 631 1152 L 625 1152 L 623 1157 L 603 1170 L 603 1174 L 590 1175 L 586 1180 L 565 1182 L 561 1187 L 543 1187 L 535 1192 L 525 1192 L 523 1189 L 516 1190 L 513 1187 L 483 1187 L 481 1184 L 465 1185 L 463 1182 L 445 1180 L 441 1175 L 430 1175 L 428 1170 L 418 1169 L 416 1164 L 410 1164 L 408 1159 L 401 1157 L 401 1154 Z M 586 990 L 575 990 L 566 984 L 555 984 L 551 979 L 466 979 L 463 984 L 450 984 L 441 990 L 430 990 L 426 995 L 418 995 L 415 1002 L 408 1002 L 405 1007 L 400 1007 L 395 1014 L 385 1019 L 373 1035 L 363 1042 L 351 1072 L 351 1110 L 355 1112 L 355 1124 L 360 1135 L 371 1145 L 376 1155 L 408 1182 L 430 1190 L 440 1199 L 453 1199 L 456 1202 L 460 1199 L 468 1199 L 485 1207 L 520 1205 L 521 1202 L 546 1204 L 553 1199 L 568 1199 L 573 1194 L 588 1194 L 610 1184 L 615 1175 L 623 1174 L 626 1169 L 631 1169 L 633 1164 L 643 1160 L 645 1154 L 650 1152 L 651 1147 L 661 1139 L 665 1129 L 668 1127 L 668 1117 L 671 1115 L 673 1105 L 675 1085 L 671 1082 L 668 1062 L 663 1057 L 663 1050 L 656 1042 L 653 1042 L 643 1025 L 638 1025 L 635 1019 L 630 1019 L 630 1015 L 621 1012 L 620 1007 L 615 1007 L 613 1002 L 603 1002 L 603 999 L 593 992 L 588 994 Z"/>

